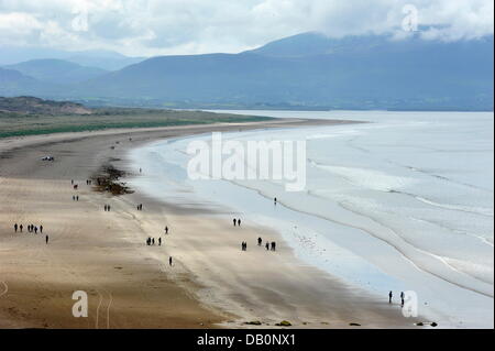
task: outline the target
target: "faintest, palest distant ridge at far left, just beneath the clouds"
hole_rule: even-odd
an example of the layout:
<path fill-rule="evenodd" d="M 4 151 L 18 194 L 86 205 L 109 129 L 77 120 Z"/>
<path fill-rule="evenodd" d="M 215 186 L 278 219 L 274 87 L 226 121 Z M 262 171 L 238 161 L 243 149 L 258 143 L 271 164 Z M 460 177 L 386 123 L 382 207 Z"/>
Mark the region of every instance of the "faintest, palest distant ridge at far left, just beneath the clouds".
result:
<path fill-rule="evenodd" d="M 45 47 L 0 46 L 0 65 L 3 66 L 32 59 L 54 58 L 105 70 L 118 70 L 145 59 L 145 57 L 129 57 L 117 52 L 102 50 L 67 52 Z"/>

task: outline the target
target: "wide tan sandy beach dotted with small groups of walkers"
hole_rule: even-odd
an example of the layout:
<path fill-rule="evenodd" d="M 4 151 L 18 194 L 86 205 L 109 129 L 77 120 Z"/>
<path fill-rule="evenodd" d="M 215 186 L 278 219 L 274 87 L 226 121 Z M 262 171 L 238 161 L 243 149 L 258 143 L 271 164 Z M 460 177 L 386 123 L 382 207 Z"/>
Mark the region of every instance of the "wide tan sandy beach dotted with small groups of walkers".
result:
<path fill-rule="evenodd" d="M 418 328 L 386 296 L 377 300 L 298 262 L 277 233 L 249 218 L 234 228 L 208 208 L 86 185 L 108 163 L 139 176 L 127 153 L 158 139 L 318 123 L 344 122 L 280 119 L 0 140 L 0 328 L 260 327 L 248 321 L 278 328 L 282 320 L 295 328 Z M 45 155 L 55 162 L 41 161 Z M 15 233 L 15 222 L 42 224 L 43 234 Z M 277 251 L 256 248 L 260 235 L 275 240 Z M 148 237 L 163 244 L 147 246 Z M 88 318 L 73 317 L 75 290 L 88 293 Z"/>

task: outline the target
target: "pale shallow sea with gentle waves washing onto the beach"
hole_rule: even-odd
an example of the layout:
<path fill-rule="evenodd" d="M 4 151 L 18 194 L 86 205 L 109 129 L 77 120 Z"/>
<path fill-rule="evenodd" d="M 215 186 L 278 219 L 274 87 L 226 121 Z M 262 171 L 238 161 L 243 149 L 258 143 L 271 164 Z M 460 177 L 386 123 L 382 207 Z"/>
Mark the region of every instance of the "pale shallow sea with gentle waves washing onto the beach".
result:
<path fill-rule="evenodd" d="M 414 290 L 419 315 L 440 326 L 493 328 L 493 112 L 234 112 L 369 123 L 222 133 L 306 141 L 302 191 L 280 180 L 190 179 L 187 146 L 211 134 L 132 151 L 144 169 L 132 186 L 271 227 L 301 262 L 376 298 Z"/>

